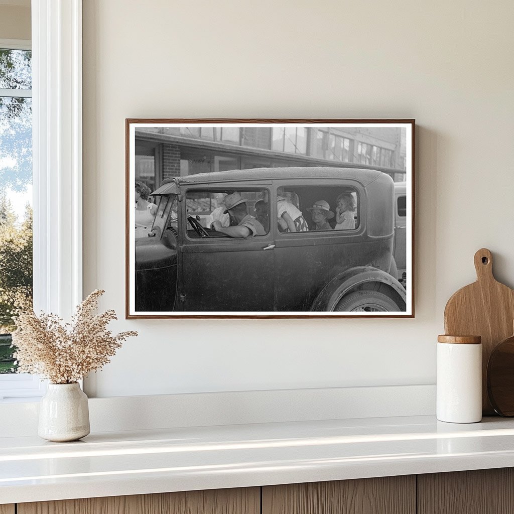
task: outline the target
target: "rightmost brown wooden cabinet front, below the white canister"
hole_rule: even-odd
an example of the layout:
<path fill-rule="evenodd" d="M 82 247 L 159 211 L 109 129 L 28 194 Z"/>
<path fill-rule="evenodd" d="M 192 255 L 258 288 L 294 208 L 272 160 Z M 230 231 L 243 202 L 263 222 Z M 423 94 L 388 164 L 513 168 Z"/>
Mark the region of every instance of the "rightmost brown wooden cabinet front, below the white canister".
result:
<path fill-rule="evenodd" d="M 418 514 L 514 512 L 514 468 L 418 475 Z"/>

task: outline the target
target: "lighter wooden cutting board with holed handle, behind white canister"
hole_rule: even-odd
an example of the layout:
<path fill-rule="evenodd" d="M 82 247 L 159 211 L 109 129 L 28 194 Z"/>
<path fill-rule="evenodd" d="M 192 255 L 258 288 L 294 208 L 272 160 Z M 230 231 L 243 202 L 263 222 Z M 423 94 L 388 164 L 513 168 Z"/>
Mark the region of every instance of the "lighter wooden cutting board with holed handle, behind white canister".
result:
<path fill-rule="evenodd" d="M 476 282 L 453 294 L 445 307 L 445 332 L 451 336 L 482 336 L 482 410 L 494 415 L 487 396 L 487 363 L 494 347 L 512 335 L 514 290 L 492 274 L 492 254 L 487 248 L 475 253 Z"/>

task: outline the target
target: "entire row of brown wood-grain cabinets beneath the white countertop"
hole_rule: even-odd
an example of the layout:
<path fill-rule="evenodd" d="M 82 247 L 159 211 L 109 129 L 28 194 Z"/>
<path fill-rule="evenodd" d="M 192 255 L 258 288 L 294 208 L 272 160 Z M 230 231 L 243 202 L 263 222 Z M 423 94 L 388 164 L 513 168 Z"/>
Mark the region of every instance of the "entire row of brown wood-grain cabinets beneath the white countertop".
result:
<path fill-rule="evenodd" d="M 0 514 L 507 514 L 514 468 L 0 505 Z"/>

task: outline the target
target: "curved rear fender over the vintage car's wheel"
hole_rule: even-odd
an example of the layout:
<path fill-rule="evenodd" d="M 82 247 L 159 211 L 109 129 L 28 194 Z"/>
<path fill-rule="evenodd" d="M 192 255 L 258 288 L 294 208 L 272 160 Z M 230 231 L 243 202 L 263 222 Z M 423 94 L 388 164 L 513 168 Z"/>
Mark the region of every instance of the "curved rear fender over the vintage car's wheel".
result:
<path fill-rule="evenodd" d="M 373 266 L 357 266 L 347 269 L 332 279 L 320 291 L 310 310 L 332 310 L 327 306 L 335 306 L 344 295 L 366 282 L 386 284 L 400 296 L 403 302 L 406 302 L 405 289 L 396 278 Z"/>

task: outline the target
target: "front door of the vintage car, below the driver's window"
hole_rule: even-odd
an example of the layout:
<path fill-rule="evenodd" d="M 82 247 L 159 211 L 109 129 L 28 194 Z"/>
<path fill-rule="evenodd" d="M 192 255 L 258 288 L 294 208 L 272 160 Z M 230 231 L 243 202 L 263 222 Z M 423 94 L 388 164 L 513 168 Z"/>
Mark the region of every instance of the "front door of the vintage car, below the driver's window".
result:
<path fill-rule="evenodd" d="M 186 193 L 187 196 L 187 193 Z M 180 286 L 175 304 L 183 311 L 272 311 L 273 232 L 248 239 L 199 237 L 187 226 L 180 243 Z M 249 206 L 249 211 L 251 211 Z M 254 214 L 253 212 L 249 212 Z M 218 234 L 219 235 L 219 234 Z"/>

